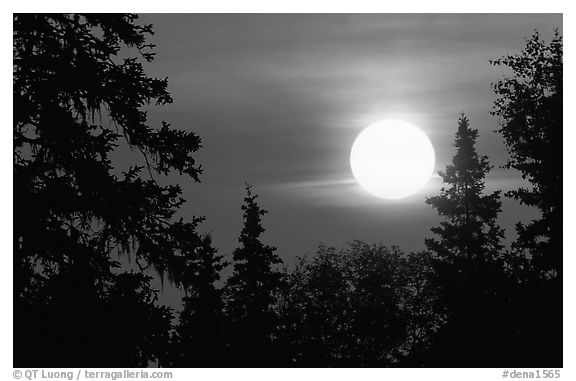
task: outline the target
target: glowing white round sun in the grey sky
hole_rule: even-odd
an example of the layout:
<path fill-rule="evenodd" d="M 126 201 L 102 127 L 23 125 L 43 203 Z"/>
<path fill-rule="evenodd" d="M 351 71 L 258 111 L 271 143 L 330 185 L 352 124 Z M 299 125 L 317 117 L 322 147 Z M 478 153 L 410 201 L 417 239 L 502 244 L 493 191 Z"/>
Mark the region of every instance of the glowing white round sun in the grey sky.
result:
<path fill-rule="evenodd" d="M 350 152 L 350 167 L 369 193 L 400 199 L 421 189 L 434 171 L 434 147 L 413 124 L 389 119 L 366 127 Z"/>

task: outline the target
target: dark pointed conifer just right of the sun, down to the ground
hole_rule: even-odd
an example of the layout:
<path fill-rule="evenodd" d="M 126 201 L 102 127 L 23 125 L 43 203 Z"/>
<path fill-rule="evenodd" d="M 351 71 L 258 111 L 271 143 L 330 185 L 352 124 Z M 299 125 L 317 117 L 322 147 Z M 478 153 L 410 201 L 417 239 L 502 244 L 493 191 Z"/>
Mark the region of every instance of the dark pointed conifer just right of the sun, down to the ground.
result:
<path fill-rule="evenodd" d="M 499 307 L 504 234 L 496 222 L 500 191 L 484 194 L 491 167 L 488 158 L 476 152 L 477 137 L 462 115 L 452 164 L 439 172 L 447 187 L 426 199 L 445 219 L 432 228 L 437 238 L 426 239 L 437 258 L 435 281 L 445 315 L 431 353 L 435 366 L 496 366 L 503 361 L 495 346 L 496 338 L 505 337 L 500 335 L 505 319 Z"/>

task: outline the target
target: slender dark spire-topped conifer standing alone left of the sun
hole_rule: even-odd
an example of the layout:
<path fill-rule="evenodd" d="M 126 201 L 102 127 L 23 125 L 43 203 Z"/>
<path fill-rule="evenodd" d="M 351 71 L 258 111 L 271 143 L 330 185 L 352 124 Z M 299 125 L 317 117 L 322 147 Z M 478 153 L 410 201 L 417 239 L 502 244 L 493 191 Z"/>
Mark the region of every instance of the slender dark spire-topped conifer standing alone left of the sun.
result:
<path fill-rule="evenodd" d="M 246 185 L 244 226 L 240 246 L 234 250 L 234 272 L 226 282 L 226 313 L 229 320 L 229 365 L 271 366 L 277 315 L 275 295 L 282 285 L 282 273 L 275 267 L 282 260 L 276 248 L 260 240 L 265 231 L 266 211 L 256 202 L 257 195 Z"/>

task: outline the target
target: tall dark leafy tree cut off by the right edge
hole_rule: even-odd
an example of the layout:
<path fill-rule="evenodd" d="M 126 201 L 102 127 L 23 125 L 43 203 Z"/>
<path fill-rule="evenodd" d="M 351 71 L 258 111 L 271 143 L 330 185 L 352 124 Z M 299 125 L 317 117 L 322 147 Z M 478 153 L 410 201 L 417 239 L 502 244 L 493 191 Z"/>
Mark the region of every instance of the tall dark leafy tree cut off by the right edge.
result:
<path fill-rule="evenodd" d="M 538 32 L 517 56 L 494 65 L 512 69 L 498 81 L 493 113 L 501 118 L 498 130 L 516 169 L 532 185 L 507 193 L 522 204 L 536 207 L 542 217 L 518 223 L 516 247 L 526 249 L 539 276 L 562 274 L 562 36 L 558 31 L 547 45 Z"/>

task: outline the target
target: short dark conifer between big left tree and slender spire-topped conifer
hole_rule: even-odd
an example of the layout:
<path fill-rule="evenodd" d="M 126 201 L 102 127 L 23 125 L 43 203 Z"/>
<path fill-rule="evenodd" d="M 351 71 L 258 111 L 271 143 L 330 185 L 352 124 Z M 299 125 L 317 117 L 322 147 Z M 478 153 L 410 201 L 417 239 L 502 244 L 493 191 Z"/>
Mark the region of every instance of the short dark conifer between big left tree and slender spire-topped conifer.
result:
<path fill-rule="evenodd" d="M 212 247 L 210 235 L 200 245 L 191 234 L 192 252 L 186 253 L 183 283 L 184 309 L 173 338 L 173 361 L 176 367 L 217 367 L 224 364 L 224 316 L 221 290 L 216 287 L 220 271 L 226 266 Z"/>

